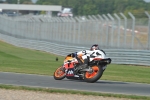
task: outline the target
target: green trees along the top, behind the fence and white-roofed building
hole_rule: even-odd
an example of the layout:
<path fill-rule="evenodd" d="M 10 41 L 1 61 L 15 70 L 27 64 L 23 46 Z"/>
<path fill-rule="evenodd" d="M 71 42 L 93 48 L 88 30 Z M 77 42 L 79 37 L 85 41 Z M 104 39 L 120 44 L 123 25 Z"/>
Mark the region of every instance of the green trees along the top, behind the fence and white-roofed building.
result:
<path fill-rule="evenodd" d="M 6 0 L 7 3 L 17 3 L 18 0 Z M 22 4 L 32 4 L 31 0 L 20 0 Z M 133 13 L 136 17 L 146 17 L 145 11 L 150 12 L 150 3 L 144 0 L 38 0 L 38 5 L 61 5 L 62 7 L 73 8 L 74 15 L 97 15 Z"/>

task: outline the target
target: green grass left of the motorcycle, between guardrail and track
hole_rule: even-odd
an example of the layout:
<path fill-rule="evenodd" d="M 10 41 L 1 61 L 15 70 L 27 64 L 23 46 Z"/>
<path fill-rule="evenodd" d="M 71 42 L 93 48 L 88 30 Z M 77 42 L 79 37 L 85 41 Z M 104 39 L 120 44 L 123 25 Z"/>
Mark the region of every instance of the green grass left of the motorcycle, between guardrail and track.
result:
<path fill-rule="evenodd" d="M 52 75 L 63 58 L 47 52 L 29 50 L 0 42 L 0 71 Z"/>

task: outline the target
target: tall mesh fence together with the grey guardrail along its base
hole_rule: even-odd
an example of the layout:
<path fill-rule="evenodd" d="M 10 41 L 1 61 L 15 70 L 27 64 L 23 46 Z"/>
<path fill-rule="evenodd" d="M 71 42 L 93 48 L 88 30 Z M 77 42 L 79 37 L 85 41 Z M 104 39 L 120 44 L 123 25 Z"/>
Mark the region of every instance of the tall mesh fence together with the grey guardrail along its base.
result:
<path fill-rule="evenodd" d="M 0 39 L 16 46 L 59 55 L 99 44 L 112 63 L 150 65 L 150 15 L 122 13 L 88 17 L 0 16 Z"/>

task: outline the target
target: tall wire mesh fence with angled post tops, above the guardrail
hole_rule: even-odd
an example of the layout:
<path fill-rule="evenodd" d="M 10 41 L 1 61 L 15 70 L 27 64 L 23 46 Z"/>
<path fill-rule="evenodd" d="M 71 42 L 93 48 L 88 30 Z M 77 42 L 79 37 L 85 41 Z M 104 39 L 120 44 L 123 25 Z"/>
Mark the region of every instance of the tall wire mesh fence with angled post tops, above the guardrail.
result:
<path fill-rule="evenodd" d="M 150 15 L 130 19 L 123 13 L 87 17 L 0 16 L 1 33 L 19 38 L 102 48 L 150 49 Z"/>

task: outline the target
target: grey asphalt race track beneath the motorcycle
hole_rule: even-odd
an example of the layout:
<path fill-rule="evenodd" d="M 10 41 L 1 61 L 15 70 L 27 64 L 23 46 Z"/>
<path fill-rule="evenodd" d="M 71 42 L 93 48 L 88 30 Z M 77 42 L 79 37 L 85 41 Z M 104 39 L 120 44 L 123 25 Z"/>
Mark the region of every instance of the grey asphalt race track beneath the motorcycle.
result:
<path fill-rule="evenodd" d="M 52 76 L 32 74 L 0 72 L 0 84 L 150 96 L 150 84 L 104 80 L 87 83 L 81 80 L 54 80 Z"/>

